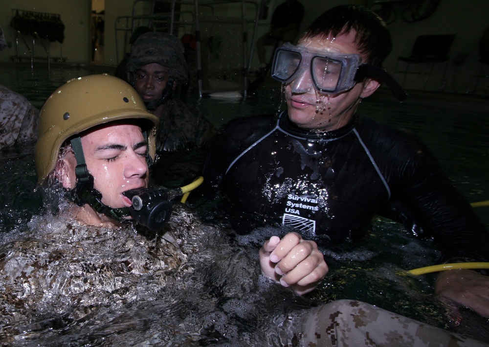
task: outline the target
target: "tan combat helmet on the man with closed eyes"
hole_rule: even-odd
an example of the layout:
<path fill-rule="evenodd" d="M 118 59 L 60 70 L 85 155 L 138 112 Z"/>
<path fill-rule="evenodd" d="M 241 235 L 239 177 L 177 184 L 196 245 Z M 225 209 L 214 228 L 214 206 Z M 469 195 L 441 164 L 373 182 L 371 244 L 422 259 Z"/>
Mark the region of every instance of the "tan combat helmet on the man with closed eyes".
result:
<path fill-rule="evenodd" d="M 39 115 L 35 163 L 38 183 L 54 170 L 62 144 L 81 132 L 120 119 L 148 121 L 148 154 L 155 160 L 159 120 L 127 82 L 107 74 L 74 78 L 58 88 Z"/>

